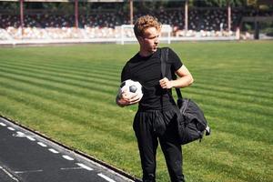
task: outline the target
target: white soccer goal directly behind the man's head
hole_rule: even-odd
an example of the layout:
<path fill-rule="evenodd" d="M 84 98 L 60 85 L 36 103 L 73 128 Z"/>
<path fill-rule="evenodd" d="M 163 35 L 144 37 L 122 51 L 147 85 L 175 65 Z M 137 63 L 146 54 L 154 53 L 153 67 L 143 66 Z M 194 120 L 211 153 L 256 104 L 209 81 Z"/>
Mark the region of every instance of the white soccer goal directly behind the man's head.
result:
<path fill-rule="evenodd" d="M 159 36 L 160 42 L 171 43 L 171 25 L 162 25 L 161 32 Z M 120 29 L 120 41 L 121 44 L 137 42 L 136 36 L 134 34 L 134 25 L 121 25 Z"/>

